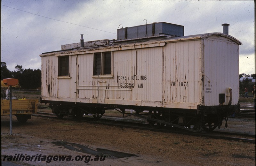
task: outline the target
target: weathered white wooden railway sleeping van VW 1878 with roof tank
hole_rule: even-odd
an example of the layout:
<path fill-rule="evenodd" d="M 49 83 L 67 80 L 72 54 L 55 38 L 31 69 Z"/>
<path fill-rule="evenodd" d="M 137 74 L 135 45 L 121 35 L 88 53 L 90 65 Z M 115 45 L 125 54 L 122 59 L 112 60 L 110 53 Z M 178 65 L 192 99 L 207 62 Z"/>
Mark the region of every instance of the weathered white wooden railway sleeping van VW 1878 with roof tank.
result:
<path fill-rule="evenodd" d="M 58 117 L 115 109 L 153 127 L 214 130 L 239 111 L 239 45 L 223 32 L 184 36 L 156 22 L 117 29 L 116 39 L 65 44 L 42 58 L 42 103 Z"/>

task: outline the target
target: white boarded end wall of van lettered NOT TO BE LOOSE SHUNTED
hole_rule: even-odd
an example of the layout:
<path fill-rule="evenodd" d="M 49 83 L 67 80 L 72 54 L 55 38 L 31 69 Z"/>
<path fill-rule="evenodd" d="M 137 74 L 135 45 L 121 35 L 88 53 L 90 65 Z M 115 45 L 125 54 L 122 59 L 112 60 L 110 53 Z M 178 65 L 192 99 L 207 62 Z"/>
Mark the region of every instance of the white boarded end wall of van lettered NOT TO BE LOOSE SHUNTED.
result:
<path fill-rule="evenodd" d="M 239 47 L 223 37 L 204 39 L 204 105 L 218 105 L 219 94 L 228 104 L 232 88 L 232 105 L 239 99 Z M 209 82 L 210 80 L 210 82 Z"/>

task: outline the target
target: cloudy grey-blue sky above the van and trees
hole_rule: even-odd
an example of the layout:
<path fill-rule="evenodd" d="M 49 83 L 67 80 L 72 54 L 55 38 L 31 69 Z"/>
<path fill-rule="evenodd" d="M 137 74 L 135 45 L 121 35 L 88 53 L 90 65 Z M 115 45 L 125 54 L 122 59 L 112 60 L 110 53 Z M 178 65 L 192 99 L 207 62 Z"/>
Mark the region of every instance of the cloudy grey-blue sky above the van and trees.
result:
<path fill-rule="evenodd" d="M 1 62 L 15 70 L 40 69 L 43 52 L 61 50 L 61 45 L 116 39 L 116 29 L 168 22 L 183 25 L 186 35 L 222 32 L 240 46 L 239 73 L 255 73 L 254 1 L 174 0 L 2 0 Z M 121 26 L 119 27 L 121 28 Z"/>

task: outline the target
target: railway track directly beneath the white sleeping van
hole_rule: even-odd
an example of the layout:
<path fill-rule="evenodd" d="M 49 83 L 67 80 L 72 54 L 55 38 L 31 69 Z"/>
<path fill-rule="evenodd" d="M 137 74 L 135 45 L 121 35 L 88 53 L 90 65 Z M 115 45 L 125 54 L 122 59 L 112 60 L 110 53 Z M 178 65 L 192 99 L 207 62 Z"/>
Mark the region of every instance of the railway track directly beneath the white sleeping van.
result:
<path fill-rule="evenodd" d="M 32 114 L 32 116 L 38 116 L 38 117 L 47 117 L 47 118 L 55 118 L 60 119 L 56 117 L 56 115 L 52 113 L 44 113 L 44 112 L 38 112 L 37 114 Z M 167 127 L 164 126 L 161 129 L 155 129 L 150 127 L 147 123 L 137 123 L 137 122 L 130 122 L 130 121 L 119 121 L 119 120 L 113 120 L 113 119 L 105 119 L 101 118 L 99 120 L 95 120 L 91 117 L 83 117 L 81 119 L 74 119 L 72 116 L 65 117 L 65 120 L 71 120 L 71 121 L 81 121 L 81 122 L 87 122 L 87 123 L 93 123 L 93 124 L 104 124 L 104 125 L 114 125 L 119 126 L 121 128 L 133 128 L 133 129 L 140 129 L 140 130 L 150 130 L 155 132 L 170 132 L 170 133 L 177 133 L 177 134 L 184 134 L 184 135 L 192 135 L 192 136 L 199 136 L 199 137 L 207 137 L 207 138 L 213 138 L 213 139 L 224 139 L 224 140 L 235 140 L 235 141 L 243 141 L 243 142 L 250 142 L 255 144 L 255 135 L 253 134 L 244 134 L 244 133 L 233 133 L 233 132 L 188 132 L 184 130 L 180 130 L 174 127 Z"/>

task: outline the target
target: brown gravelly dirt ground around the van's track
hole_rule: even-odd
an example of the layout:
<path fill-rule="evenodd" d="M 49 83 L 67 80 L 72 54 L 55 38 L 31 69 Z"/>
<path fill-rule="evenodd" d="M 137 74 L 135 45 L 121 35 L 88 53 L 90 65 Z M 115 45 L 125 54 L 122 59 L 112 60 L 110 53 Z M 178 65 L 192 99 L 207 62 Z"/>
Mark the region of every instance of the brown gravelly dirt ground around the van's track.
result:
<path fill-rule="evenodd" d="M 13 135 L 10 136 L 9 117 L 1 117 L 2 165 L 255 165 L 255 144 L 251 143 L 89 124 L 65 118 L 32 117 L 25 124 L 19 124 L 15 116 L 12 119 Z M 229 119 L 228 128 L 223 124 L 218 130 L 255 134 L 255 118 Z M 91 151 L 82 152 L 83 148 Z M 116 156 L 111 155 L 113 151 Z M 8 161 L 18 158 L 18 154 L 50 158 Z M 70 161 L 54 161 L 53 158 L 50 161 L 55 155 L 72 158 Z M 82 158 L 83 155 L 88 157 Z M 106 158 L 100 161 L 97 155 Z"/>

